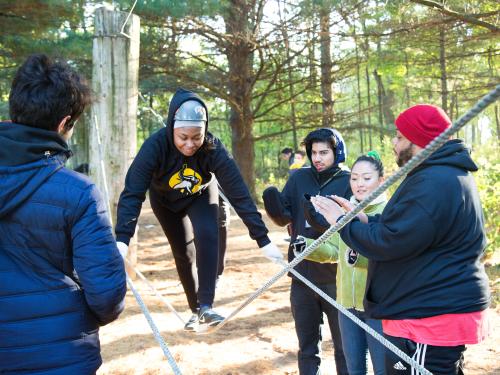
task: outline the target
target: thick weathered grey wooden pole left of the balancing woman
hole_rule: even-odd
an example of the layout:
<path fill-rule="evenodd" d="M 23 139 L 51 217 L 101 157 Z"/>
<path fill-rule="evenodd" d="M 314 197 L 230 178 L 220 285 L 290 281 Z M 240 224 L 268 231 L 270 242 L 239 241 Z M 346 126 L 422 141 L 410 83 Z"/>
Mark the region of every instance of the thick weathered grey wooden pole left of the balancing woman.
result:
<path fill-rule="evenodd" d="M 113 224 L 125 175 L 137 152 L 140 21 L 138 16 L 127 16 L 107 7 L 96 9 L 92 51 L 96 100 L 90 126 L 90 175 L 108 199 Z M 128 258 L 137 263 L 137 235 L 130 242 Z"/>

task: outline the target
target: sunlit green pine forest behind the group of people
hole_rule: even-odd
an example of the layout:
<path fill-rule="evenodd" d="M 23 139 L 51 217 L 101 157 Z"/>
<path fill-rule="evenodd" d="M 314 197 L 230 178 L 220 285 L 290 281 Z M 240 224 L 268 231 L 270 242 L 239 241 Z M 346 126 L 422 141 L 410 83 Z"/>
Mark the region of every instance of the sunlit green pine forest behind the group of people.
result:
<path fill-rule="evenodd" d="M 128 12 L 133 3 L 107 6 Z M 0 118 L 9 118 L 10 83 L 29 54 L 60 57 L 92 78 L 93 12 L 102 4 L 0 0 Z M 456 120 L 500 82 L 494 0 L 139 0 L 134 14 L 138 144 L 163 126 L 178 87 L 194 90 L 256 198 L 283 186 L 279 151 L 300 149 L 313 129 L 342 133 L 348 165 L 378 150 L 390 174 L 400 111 L 432 103 Z M 499 117 L 497 102 L 458 134 L 480 167 L 489 258 L 500 248 Z M 88 126 L 87 115 L 72 140 L 72 166 L 88 161 Z"/>

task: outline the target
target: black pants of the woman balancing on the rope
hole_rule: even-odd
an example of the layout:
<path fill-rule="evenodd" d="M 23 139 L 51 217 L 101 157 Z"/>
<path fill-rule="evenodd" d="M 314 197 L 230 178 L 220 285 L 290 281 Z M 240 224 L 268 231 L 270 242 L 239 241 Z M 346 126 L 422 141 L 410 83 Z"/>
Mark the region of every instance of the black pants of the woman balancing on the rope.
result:
<path fill-rule="evenodd" d="M 218 267 L 218 188 L 212 183 L 181 212 L 172 212 L 150 194 L 151 208 L 174 255 L 191 311 L 212 305 Z"/>

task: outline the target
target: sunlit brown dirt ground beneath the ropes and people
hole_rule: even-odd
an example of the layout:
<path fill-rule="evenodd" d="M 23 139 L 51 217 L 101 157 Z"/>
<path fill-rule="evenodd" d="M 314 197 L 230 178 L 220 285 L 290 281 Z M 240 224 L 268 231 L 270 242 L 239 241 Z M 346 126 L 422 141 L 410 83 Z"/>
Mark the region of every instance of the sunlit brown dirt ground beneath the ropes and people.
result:
<path fill-rule="evenodd" d="M 172 254 L 149 207 L 139 221 L 138 268 L 184 319 L 190 311 L 178 281 Z M 271 239 L 285 253 L 285 231 L 269 223 Z M 215 308 L 227 315 L 276 272 L 277 265 L 261 256 L 234 213 L 228 236 L 227 265 L 216 291 Z M 289 304 L 289 279 L 281 278 L 243 309 L 220 331 L 210 335 L 183 331 L 181 322 L 137 279 L 136 288 L 183 374 L 298 374 L 297 338 Z M 101 329 L 103 365 L 98 375 L 170 374 L 172 370 L 153 337 L 134 296 L 114 323 Z M 500 375 L 500 314 L 491 310 L 491 337 L 466 351 L 466 373 Z M 335 374 L 331 338 L 324 329 L 323 374 Z"/>

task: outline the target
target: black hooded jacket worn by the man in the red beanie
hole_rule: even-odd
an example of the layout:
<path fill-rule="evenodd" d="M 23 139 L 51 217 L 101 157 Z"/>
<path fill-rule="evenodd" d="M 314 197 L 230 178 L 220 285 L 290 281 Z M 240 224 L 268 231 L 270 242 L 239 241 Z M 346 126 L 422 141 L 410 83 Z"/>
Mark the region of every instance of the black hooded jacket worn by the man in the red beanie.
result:
<path fill-rule="evenodd" d="M 353 220 L 342 240 L 366 256 L 364 307 L 377 319 L 414 319 L 488 307 L 477 166 L 448 141 L 403 180 L 381 215 Z"/>

